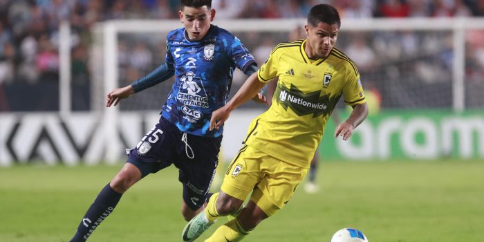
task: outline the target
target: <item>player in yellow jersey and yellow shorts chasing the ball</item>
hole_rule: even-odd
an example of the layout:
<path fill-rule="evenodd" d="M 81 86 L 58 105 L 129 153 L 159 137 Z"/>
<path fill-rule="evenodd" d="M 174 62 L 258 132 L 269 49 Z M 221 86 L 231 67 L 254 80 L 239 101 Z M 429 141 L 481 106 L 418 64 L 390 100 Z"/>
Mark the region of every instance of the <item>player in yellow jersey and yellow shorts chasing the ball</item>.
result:
<path fill-rule="evenodd" d="M 218 129 L 233 109 L 279 77 L 270 108 L 250 124 L 244 146 L 225 173 L 221 192 L 187 223 L 183 241 L 194 241 L 219 216 L 239 212 L 251 192 L 241 212 L 206 241 L 240 241 L 288 203 L 308 171 L 341 95 L 353 111 L 337 126 L 335 138 L 347 140 L 366 118 L 368 107 L 357 68 L 334 48 L 340 25 L 333 6 L 311 8 L 306 39 L 276 46 L 257 74 L 248 78 L 230 102 L 212 113 L 210 129 Z"/>

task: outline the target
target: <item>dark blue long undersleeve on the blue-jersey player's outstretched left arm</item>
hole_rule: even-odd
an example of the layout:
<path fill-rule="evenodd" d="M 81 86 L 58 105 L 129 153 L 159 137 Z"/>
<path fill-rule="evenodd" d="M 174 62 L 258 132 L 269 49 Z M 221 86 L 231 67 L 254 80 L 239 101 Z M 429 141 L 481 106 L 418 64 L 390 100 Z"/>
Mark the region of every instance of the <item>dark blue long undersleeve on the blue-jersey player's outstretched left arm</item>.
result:
<path fill-rule="evenodd" d="M 164 82 L 168 80 L 169 77 L 172 77 L 175 74 L 175 68 L 173 64 L 165 62 L 161 64 L 156 69 L 151 71 L 148 75 L 141 77 L 140 79 L 136 80 L 135 82 L 131 83 L 135 93 L 143 91 L 151 86 Z"/>

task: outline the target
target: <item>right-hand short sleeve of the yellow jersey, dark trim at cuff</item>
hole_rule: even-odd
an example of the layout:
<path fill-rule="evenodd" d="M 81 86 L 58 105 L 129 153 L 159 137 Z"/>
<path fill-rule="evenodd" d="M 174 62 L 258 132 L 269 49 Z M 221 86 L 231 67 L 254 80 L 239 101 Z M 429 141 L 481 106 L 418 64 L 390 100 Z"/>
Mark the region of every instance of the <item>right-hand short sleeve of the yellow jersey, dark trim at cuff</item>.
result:
<path fill-rule="evenodd" d="M 355 104 L 362 104 L 366 102 L 360 75 L 357 71 L 348 71 L 346 75 L 346 84 L 343 87 L 344 104 L 353 106 Z"/>

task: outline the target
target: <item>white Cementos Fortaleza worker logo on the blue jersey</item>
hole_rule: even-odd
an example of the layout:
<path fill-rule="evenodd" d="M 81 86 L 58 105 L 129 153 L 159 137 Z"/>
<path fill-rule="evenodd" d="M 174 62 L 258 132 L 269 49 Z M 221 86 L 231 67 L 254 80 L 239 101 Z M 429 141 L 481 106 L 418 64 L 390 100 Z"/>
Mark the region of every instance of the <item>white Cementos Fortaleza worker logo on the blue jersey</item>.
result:
<path fill-rule="evenodd" d="M 178 101 L 188 106 L 208 107 L 207 93 L 200 77 L 195 77 L 195 74 L 189 71 L 180 79 L 180 82 L 182 84 L 176 95 Z"/>

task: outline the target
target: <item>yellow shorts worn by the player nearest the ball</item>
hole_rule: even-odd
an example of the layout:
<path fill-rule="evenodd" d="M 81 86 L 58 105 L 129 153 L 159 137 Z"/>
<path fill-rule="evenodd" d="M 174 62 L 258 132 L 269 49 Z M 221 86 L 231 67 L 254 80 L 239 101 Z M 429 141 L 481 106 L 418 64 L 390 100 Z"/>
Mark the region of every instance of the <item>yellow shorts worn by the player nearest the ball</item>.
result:
<path fill-rule="evenodd" d="M 229 165 L 221 190 L 234 198 L 250 200 L 271 216 L 292 197 L 308 168 L 297 167 L 268 156 L 248 145 Z"/>

